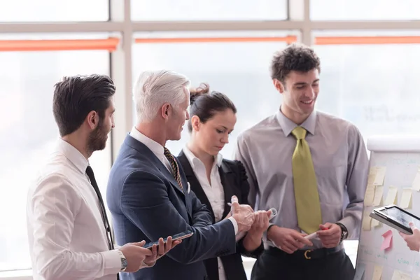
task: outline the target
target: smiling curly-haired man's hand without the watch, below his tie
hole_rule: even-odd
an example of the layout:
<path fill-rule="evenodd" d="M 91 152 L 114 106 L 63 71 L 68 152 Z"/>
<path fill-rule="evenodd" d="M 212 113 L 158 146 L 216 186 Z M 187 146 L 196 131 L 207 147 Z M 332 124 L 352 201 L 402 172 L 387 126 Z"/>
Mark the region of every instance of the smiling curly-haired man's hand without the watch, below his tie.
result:
<path fill-rule="evenodd" d="M 306 235 L 290 228 L 280 228 L 273 225 L 267 232 L 267 238 L 271 240 L 276 247 L 286 253 L 294 253 L 305 245 L 312 246 L 312 242 L 304 239 Z"/>

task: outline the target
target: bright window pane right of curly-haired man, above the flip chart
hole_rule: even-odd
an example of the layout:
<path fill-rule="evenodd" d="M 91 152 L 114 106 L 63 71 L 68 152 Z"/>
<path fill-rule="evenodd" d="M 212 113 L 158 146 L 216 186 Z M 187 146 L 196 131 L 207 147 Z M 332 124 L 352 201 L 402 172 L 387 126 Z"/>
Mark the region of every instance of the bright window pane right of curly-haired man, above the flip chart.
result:
<path fill-rule="evenodd" d="M 316 36 L 325 33 L 316 32 Z M 351 121 L 365 138 L 374 134 L 418 133 L 419 47 L 419 44 L 315 46 L 321 58 L 317 108 Z"/>

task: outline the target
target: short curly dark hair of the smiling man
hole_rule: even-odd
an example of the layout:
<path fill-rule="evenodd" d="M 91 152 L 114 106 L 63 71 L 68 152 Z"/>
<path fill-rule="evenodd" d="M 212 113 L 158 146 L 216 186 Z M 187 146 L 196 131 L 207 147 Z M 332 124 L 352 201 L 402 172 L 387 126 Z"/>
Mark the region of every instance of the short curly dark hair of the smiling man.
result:
<path fill-rule="evenodd" d="M 271 64 L 271 78 L 284 83 L 291 71 L 308 72 L 318 69 L 321 72 L 318 55 L 307 45 L 293 43 L 276 52 Z"/>

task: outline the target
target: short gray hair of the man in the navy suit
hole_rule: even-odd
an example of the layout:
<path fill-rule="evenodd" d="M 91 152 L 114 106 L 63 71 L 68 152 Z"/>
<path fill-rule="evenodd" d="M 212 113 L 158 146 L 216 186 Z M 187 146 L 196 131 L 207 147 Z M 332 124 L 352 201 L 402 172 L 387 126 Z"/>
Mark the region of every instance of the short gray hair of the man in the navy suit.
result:
<path fill-rule="evenodd" d="M 134 85 L 133 101 L 137 120 L 150 122 L 163 104 L 178 106 L 185 99 L 190 80 L 180 73 L 167 70 L 144 71 Z"/>

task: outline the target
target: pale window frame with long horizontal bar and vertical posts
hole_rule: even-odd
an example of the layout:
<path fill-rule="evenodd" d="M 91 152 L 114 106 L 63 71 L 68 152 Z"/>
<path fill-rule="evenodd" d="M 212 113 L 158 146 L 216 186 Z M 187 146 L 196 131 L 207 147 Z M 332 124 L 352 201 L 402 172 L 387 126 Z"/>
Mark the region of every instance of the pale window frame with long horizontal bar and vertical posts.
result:
<path fill-rule="evenodd" d="M 318 30 L 373 30 L 373 31 L 406 31 L 420 30 L 420 20 L 377 20 L 348 21 L 325 20 L 314 21 L 310 18 L 311 0 L 288 0 L 287 20 L 256 21 L 133 21 L 131 18 L 131 0 L 110 0 L 107 22 L 0 22 L 2 34 L 23 33 L 89 33 L 106 32 L 119 39 L 115 50 L 110 52 L 111 78 L 117 86 L 115 96 L 116 127 L 111 132 L 111 161 L 118 155 L 119 148 L 133 125 L 132 112 L 132 43 L 137 31 L 286 31 L 298 30 L 298 41 L 314 45 L 313 33 Z M 323 38 L 325 40 L 325 38 Z M 374 39 L 373 39 L 374 40 Z M 0 45 L 3 42 L 0 41 Z M 325 41 L 324 41 L 325 43 Z M 335 43 L 340 43 L 335 41 Z M 343 43 L 343 42 L 341 42 Z M 372 41 L 371 41 L 372 43 Z M 384 43 L 384 42 L 382 42 Z M 409 43 L 409 40 L 405 43 Z M 29 272 L 29 273 L 28 273 Z M 0 272 L 0 280 L 31 279 L 30 270 Z"/>

